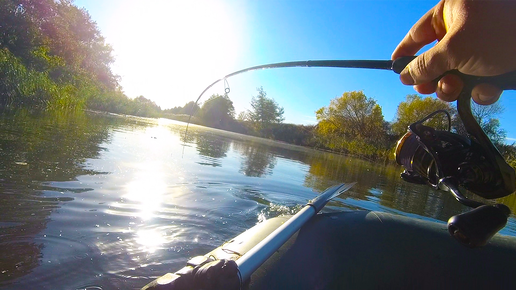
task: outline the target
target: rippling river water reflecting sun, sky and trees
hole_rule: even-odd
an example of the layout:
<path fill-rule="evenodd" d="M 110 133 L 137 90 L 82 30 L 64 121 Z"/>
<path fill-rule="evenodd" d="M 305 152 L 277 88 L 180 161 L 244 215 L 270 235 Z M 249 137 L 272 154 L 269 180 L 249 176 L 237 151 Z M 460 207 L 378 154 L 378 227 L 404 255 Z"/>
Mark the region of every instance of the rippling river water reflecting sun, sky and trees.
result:
<path fill-rule="evenodd" d="M 467 210 L 400 168 L 170 120 L 25 112 L 0 128 L 0 288 L 139 289 L 327 187 L 324 211 Z M 513 197 L 502 200 L 516 210 Z M 516 235 L 511 218 L 503 234 Z"/>

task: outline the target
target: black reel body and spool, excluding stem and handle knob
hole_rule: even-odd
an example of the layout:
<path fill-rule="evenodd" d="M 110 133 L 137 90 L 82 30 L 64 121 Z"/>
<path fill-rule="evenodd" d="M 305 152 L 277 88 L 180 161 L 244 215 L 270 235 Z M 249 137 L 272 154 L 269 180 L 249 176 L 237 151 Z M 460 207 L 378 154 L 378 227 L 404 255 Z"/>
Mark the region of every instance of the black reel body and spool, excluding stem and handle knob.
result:
<path fill-rule="evenodd" d="M 463 188 L 486 199 L 511 194 L 514 184 L 506 186 L 503 179 L 507 168 L 498 166 L 488 154 L 475 139 L 416 122 L 398 142 L 396 162 L 405 167 L 401 177 L 408 182 L 439 189 L 442 178 L 454 178 Z"/>

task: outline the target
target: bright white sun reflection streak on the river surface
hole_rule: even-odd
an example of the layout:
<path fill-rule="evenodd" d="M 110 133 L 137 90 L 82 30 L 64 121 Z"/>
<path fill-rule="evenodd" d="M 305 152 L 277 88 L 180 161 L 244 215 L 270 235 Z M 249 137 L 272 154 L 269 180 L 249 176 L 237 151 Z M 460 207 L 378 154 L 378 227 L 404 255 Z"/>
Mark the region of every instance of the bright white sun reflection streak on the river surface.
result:
<path fill-rule="evenodd" d="M 117 223 L 106 233 L 105 239 L 98 244 L 103 252 L 125 252 L 133 262 L 143 262 L 146 254 L 155 254 L 169 247 L 181 237 L 183 229 L 174 224 L 171 204 L 181 195 L 181 187 L 175 186 L 183 177 L 176 170 L 176 163 L 169 159 L 170 144 L 178 143 L 176 135 L 171 134 L 169 121 L 159 120 L 157 126 L 145 128 L 144 134 L 126 135 L 124 142 L 134 148 L 124 156 L 124 162 L 117 164 L 118 171 L 113 178 L 123 179 L 124 186 L 117 190 L 116 201 L 108 213 L 125 216 L 128 223 Z M 174 213 L 175 214 L 175 213 Z M 113 224 L 113 222 L 112 222 Z M 99 228 L 104 225 L 99 224 Z M 102 230 L 102 229 L 101 229 Z M 113 240 L 110 233 L 119 234 L 123 239 Z"/>

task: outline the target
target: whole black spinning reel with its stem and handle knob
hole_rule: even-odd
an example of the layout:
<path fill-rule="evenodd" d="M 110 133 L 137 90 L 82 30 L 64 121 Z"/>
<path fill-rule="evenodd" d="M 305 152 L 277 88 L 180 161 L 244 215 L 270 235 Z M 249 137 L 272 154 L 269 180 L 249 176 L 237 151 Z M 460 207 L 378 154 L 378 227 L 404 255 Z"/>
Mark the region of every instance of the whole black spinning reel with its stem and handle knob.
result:
<path fill-rule="evenodd" d="M 450 115 L 439 110 L 411 124 L 395 154 L 396 162 L 405 167 L 403 180 L 448 191 L 460 203 L 475 208 L 451 217 L 448 230 L 462 244 L 480 247 L 505 226 L 511 211 L 503 204 L 469 199 L 461 190 L 485 199 L 504 197 L 515 191 L 516 174 L 473 118 L 470 98 L 471 90 L 466 89 L 457 101 L 468 137 L 450 132 Z M 439 113 L 448 117 L 448 131 L 423 124 Z"/>

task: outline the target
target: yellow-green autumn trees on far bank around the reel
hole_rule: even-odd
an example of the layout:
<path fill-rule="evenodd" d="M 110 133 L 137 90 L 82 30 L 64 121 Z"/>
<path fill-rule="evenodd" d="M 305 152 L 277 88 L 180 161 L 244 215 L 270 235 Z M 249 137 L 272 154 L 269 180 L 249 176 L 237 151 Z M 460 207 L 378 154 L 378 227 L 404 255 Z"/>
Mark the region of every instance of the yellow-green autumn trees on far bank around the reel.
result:
<path fill-rule="evenodd" d="M 425 124 L 438 130 L 448 130 L 464 134 L 465 129 L 452 103 L 434 97 L 408 95 L 398 105 L 395 120 L 387 122 L 376 100 L 367 97 L 362 91 L 346 92 L 331 101 L 328 107 L 316 111 L 316 128 L 319 144 L 339 152 L 373 159 L 392 158 L 396 141 L 403 136 L 408 126 L 429 114 L 445 110 L 435 115 Z M 506 132 L 496 118 L 503 112 L 499 104 L 480 106 L 472 104 L 472 113 L 486 135 L 506 155 L 513 146 L 504 144 Z M 508 155 L 507 155 L 508 156 Z"/>

